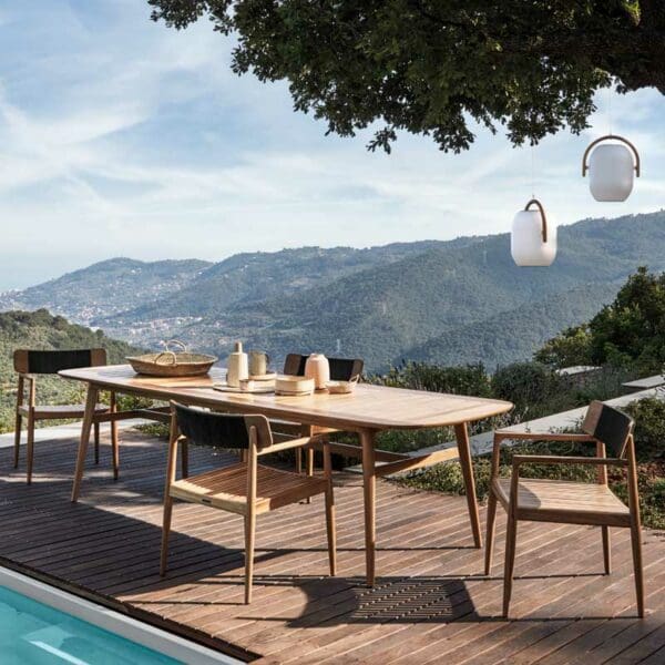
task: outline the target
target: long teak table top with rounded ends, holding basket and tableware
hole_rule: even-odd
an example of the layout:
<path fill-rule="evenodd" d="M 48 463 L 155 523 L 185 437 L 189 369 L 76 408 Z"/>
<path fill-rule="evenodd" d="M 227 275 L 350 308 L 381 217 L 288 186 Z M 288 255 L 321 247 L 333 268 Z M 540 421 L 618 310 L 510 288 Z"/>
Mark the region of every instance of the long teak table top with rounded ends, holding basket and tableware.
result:
<path fill-rule="evenodd" d="M 158 378 L 140 376 L 129 365 L 70 369 L 68 379 L 85 381 L 101 389 L 131 392 L 155 399 L 175 399 L 244 413 L 264 413 L 305 424 L 364 429 L 420 429 L 472 422 L 510 411 L 511 402 L 424 390 L 406 390 L 361 383 L 350 395 L 316 392 L 307 397 L 243 395 L 213 390 L 225 372 L 208 376 Z"/>

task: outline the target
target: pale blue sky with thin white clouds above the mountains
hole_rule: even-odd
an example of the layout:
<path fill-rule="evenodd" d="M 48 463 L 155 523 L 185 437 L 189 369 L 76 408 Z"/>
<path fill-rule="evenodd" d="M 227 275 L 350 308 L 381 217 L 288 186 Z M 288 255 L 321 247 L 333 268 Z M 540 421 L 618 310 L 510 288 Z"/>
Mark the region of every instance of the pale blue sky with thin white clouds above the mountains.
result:
<path fill-rule="evenodd" d="M 535 195 L 571 224 L 665 207 L 665 99 L 598 94 L 592 127 L 533 151 L 481 131 L 461 155 L 400 135 L 326 136 L 284 82 L 229 70 L 207 20 L 184 31 L 142 0 L 0 0 L 0 290 L 114 256 L 219 260 L 303 245 L 365 247 L 510 229 Z M 633 141 L 643 176 L 601 204 L 586 144 Z M 532 170 L 533 161 L 533 170 Z"/>

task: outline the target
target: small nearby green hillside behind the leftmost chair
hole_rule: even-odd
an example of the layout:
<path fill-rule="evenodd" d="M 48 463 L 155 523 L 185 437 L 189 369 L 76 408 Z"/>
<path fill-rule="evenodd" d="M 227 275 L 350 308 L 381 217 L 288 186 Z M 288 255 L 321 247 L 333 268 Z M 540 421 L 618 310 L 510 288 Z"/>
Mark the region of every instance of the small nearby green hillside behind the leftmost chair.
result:
<path fill-rule="evenodd" d="M 45 309 L 37 311 L 4 311 L 0 314 L 0 432 L 13 430 L 17 379 L 13 371 L 13 351 L 31 349 L 82 349 L 103 347 L 110 362 L 122 362 L 136 349 L 108 338 L 83 326 L 68 323 L 61 316 L 52 316 Z M 38 399 L 50 403 L 80 401 L 83 396 L 78 383 L 58 377 L 40 377 Z"/>

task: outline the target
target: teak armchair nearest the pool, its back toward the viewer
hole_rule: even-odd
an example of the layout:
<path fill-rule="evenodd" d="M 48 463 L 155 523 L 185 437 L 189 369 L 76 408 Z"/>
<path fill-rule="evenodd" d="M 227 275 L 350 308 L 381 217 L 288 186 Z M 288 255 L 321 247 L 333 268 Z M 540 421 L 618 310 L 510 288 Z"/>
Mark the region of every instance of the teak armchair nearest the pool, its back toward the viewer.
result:
<path fill-rule="evenodd" d="M 186 437 L 188 441 L 198 446 L 242 450 L 243 459 L 239 463 L 231 467 L 176 480 L 177 443 L 182 437 Z M 264 416 L 216 413 L 172 402 L 160 574 L 166 574 L 174 499 L 244 515 L 245 603 L 248 604 L 252 601 L 256 515 L 324 493 L 328 559 L 330 574 L 335 575 L 337 565 L 335 501 L 329 448 L 324 446 L 324 478 L 309 478 L 258 463 L 259 457 L 289 448 L 298 448 L 308 442 L 309 438 L 301 438 L 275 443 L 268 420 Z"/>

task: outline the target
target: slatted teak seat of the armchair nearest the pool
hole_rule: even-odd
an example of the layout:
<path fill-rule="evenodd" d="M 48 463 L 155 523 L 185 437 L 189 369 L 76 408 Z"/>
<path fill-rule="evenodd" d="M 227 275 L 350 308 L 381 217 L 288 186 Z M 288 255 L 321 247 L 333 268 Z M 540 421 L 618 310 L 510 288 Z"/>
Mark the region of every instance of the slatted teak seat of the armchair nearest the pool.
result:
<path fill-rule="evenodd" d="M 215 469 L 171 485 L 175 499 L 203 503 L 221 510 L 247 514 L 247 464 Z M 265 513 L 326 491 L 324 478 L 294 475 L 263 464 L 257 466 L 256 513 Z"/>

